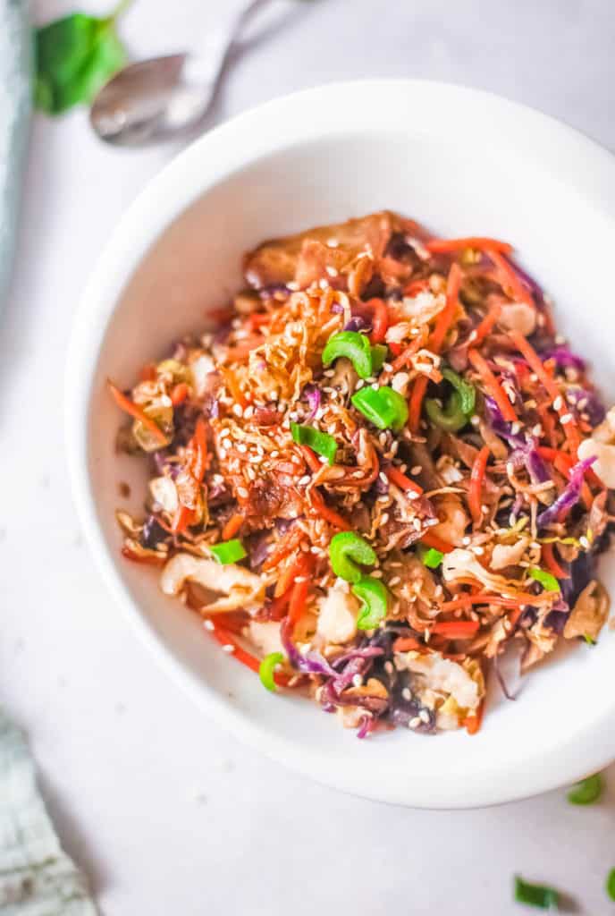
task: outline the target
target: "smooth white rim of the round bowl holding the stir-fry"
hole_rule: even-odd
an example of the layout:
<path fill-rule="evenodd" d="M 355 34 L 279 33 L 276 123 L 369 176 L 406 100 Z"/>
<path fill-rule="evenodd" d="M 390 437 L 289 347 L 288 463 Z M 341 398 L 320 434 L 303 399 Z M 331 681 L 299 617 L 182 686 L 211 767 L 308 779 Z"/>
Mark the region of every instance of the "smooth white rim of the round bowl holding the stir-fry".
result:
<path fill-rule="evenodd" d="M 238 114 L 194 140 L 146 184 L 124 212 L 92 270 L 74 316 L 66 359 L 65 444 L 73 500 L 102 579 L 124 616 L 158 664 L 218 725 L 302 775 L 374 801 L 448 809 L 510 802 L 555 789 L 603 769 L 615 758 L 615 730 L 608 727 L 607 721 L 598 731 L 595 727 L 591 730 L 586 727 L 585 732 L 581 729 L 573 737 L 568 736 L 565 742 L 542 757 L 529 755 L 523 770 L 506 773 L 506 779 L 493 778 L 488 769 L 483 769 L 476 774 L 473 785 L 448 787 L 444 791 L 442 787 L 421 785 L 419 794 L 409 780 L 405 786 L 382 786 L 379 780 L 369 784 L 352 772 L 345 773 L 343 779 L 338 778 L 329 772 L 327 761 L 323 759 L 326 755 L 316 752 L 307 755 L 305 748 L 297 753 L 290 740 L 272 736 L 264 725 L 255 725 L 181 665 L 147 623 L 129 593 L 102 536 L 96 514 L 88 470 L 92 380 L 104 333 L 126 281 L 150 245 L 190 203 L 264 155 L 291 144 L 313 142 L 318 137 L 342 136 L 349 125 L 345 118 L 340 119 L 340 111 L 358 112 L 357 106 L 362 109 L 366 94 L 371 93 L 397 95 L 405 102 L 420 99 L 424 103 L 431 99 L 434 103 L 460 106 L 463 110 L 476 109 L 478 105 L 483 112 L 488 110 L 491 117 L 497 118 L 502 129 L 514 123 L 516 136 L 520 133 L 531 136 L 537 156 L 546 159 L 547 154 L 557 148 L 558 157 L 553 168 L 562 180 L 581 187 L 584 196 L 591 198 L 597 209 L 603 211 L 606 206 L 610 216 L 615 214 L 615 157 L 607 149 L 553 117 L 482 90 L 425 80 L 333 82 L 281 96 Z M 307 110 L 313 118 L 297 118 L 297 112 L 305 114 Z M 264 120 L 277 125 L 277 129 L 263 130 Z M 354 126 L 358 124 L 357 120 Z M 280 129 L 279 125 L 283 127 Z M 520 125 L 526 129 L 519 131 Z M 256 127 L 258 130 L 254 129 Z M 249 144 L 234 142 L 245 136 L 250 137 Z M 605 188 L 609 190 L 607 194 Z M 604 718 L 606 720 L 606 716 Z"/>

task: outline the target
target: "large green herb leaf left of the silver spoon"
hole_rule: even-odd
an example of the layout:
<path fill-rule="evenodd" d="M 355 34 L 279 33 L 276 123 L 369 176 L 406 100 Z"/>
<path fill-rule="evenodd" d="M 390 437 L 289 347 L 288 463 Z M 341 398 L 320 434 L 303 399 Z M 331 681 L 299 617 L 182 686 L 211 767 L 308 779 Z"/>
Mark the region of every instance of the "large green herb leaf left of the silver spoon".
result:
<path fill-rule="evenodd" d="M 119 10 L 118 10 L 119 12 Z M 91 102 L 127 55 L 115 19 L 73 13 L 37 29 L 34 101 L 48 114 Z"/>

